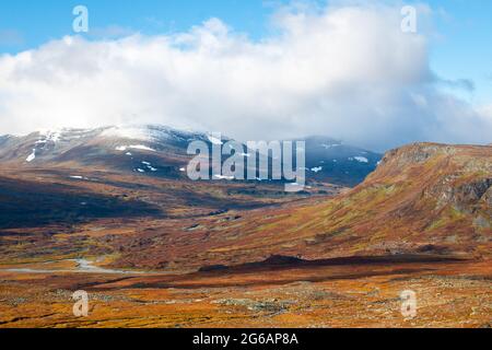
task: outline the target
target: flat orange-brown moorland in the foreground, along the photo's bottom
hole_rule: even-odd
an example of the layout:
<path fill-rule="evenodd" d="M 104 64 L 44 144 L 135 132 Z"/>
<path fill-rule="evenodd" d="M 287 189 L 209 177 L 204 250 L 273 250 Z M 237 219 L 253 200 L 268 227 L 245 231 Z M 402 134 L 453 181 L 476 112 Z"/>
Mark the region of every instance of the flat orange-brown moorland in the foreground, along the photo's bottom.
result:
<path fill-rule="evenodd" d="M 490 261 L 162 275 L 0 271 L 0 327 L 491 327 Z M 26 288 L 28 285 L 28 288 Z M 72 315 L 75 290 L 89 316 Z M 401 315 L 415 291 L 418 315 Z"/>

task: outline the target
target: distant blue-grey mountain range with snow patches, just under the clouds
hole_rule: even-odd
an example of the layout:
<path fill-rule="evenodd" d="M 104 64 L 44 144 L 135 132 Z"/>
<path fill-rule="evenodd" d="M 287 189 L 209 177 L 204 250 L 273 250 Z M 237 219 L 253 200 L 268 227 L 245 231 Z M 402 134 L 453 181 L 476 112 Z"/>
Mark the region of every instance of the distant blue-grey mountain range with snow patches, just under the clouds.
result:
<path fill-rule="evenodd" d="M 206 132 L 159 125 L 36 131 L 24 137 L 0 137 L 0 164 L 24 167 L 78 164 L 180 178 L 186 176 L 185 168 L 191 159 L 186 153 L 188 144 L 195 140 L 214 142 Z M 327 137 L 303 140 L 311 182 L 355 186 L 382 159 L 380 154 Z"/>

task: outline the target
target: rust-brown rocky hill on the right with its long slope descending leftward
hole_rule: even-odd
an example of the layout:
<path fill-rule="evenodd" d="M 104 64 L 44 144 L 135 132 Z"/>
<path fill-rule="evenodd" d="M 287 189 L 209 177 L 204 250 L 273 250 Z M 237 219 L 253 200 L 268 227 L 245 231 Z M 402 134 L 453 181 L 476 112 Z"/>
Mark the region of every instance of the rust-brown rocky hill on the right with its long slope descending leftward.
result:
<path fill-rule="evenodd" d="M 198 229 L 186 233 L 186 242 L 179 230 L 166 231 L 172 244 L 130 249 L 121 264 L 154 254 L 171 254 L 195 267 L 262 261 L 272 255 L 311 260 L 490 257 L 492 147 L 411 144 L 388 152 L 363 184 L 333 199 L 312 198 L 268 213 L 254 210 L 238 221 L 189 224 Z"/>

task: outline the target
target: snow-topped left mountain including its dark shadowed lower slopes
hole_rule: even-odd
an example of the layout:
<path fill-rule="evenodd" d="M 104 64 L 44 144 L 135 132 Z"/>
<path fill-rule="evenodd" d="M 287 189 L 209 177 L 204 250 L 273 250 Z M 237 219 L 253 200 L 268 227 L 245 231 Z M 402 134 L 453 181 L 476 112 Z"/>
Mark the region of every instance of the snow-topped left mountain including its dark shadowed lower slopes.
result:
<path fill-rule="evenodd" d="M 0 231 L 72 230 L 97 220 L 209 217 L 340 191 L 340 186 L 329 184 L 289 195 L 278 182 L 191 182 L 186 173 L 191 159 L 187 148 L 196 140 L 209 147 L 221 142 L 206 133 L 163 126 L 1 137 Z"/>

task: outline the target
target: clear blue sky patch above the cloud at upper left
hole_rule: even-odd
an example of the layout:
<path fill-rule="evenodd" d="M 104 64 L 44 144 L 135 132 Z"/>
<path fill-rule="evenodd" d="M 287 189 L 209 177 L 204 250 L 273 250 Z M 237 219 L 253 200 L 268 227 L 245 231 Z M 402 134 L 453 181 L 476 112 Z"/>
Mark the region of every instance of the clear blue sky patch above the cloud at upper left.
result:
<path fill-rule="evenodd" d="M 276 8 L 262 0 L 2 1 L 0 28 L 17 31 L 23 37 L 23 43 L 2 45 L 2 50 L 30 48 L 47 39 L 71 34 L 71 11 L 78 4 L 89 8 L 92 27 L 117 25 L 144 34 L 161 34 L 187 31 L 210 18 L 220 18 L 254 37 L 263 34 L 268 16 Z"/>

